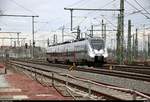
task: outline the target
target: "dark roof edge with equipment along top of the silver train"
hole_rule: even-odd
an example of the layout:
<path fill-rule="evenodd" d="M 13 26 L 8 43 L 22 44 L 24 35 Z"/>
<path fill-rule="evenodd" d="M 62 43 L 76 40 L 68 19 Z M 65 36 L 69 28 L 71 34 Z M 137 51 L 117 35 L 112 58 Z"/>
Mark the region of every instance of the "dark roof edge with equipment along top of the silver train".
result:
<path fill-rule="evenodd" d="M 68 44 L 68 43 L 73 43 L 73 42 L 79 42 L 79 41 L 89 40 L 89 39 L 101 39 L 102 40 L 102 38 L 98 38 L 98 37 L 96 37 L 96 38 L 81 38 L 81 39 L 76 39 L 76 40 L 72 40 L 72 41 L 65 41 L 63 43 L 53 44 L 53 45 L 50 45 L 49 47 L 57 46 L 57 45 L 63 45 L 63 44 Z"/>

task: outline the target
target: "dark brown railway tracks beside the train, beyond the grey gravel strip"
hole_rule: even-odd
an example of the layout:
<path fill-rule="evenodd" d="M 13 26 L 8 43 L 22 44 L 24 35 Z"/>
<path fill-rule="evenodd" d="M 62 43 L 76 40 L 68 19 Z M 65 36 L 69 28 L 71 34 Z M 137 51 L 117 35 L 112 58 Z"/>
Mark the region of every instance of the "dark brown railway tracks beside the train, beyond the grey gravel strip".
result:
<path fill-rule="evenodd" d="M 19 60 L 22 61 L 22 60 Z M 22 61 L 27 63 L 34 63 L 34 64 L 42 64 L 46 66 L 54 66 L 64 69 L 69 69 L 68 65 L 63 64 L 51 64 L 51 63 L 45 63 L 44 61 Z M 149 67 L 137 67 L 137 66 L 127 66 L 127 65 L 112 65 L 110 70 L 110 66 L 106 65 L 101 68 L 89 68 L 87 66 L 78 66 L 74 70 L 77 71 L 83 71 L 83 72 L 89 72 L 89 73 L 96 73 L 96 74 L 104 74 L 104 75 L 110 75 L 110 76 L 117 76 L 117 77 L 123 77 L 123 78 L 129 78 L 129 79 L 135 79 L 135 80 L 142 80 L 142 81 L 148 81 L 150 82 L 150 68 Z M 145 69 L 145 71 L 142 71 Z"/>

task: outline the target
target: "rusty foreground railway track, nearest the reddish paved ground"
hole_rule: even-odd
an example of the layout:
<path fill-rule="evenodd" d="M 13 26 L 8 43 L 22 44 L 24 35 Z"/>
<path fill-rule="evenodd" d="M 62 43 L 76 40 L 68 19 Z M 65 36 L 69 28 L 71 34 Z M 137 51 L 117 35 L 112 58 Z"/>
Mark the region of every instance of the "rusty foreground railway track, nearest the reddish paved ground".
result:
<path fill-rule="evenodd" d="M 61 83 L 67 82 L 66 84 L 70 84 L 71 86 L 80 87 L 80 89 L 84 89 L 84 90 L 89 87 L 89 83 L 90 83 L 89 92 L 91 92 L 93 94 L 95 94 L 95 93 L 103 94 L 107 97 L 111 97 L 112 99 L 119 99 L 119 100 L 135 100 L 135 99 L 149 100 L 150 99 L 149 96 L 146 96 L 138 91 L 102 85 L 102 84 L 99 84 L 99 83 L 96 83 L 96 82 L 93 82 L 90 80 L 87 81 L 87 80 L 79 79 L 79 78 L 76 78 L 71 75 L 62 75 L 58 72 L 52 72 L 45 68 L 31 66 L 31 64 L 27 65 L 27 64 L 20 63 L 20 62 L 16 62 L 16 61 L 10 61 L 9 64 L 11 66 L 16 66 L 18 68 L 27 70 L 31 73 L 36 73 L 36 74 L 42 75 L 44 77 L 51 78 L 53 80 L 57 80 Z M 53 75 L 50 73 L 53 73 Z M 55 77 L 53 77 L 53 76 L 55 76 Z M 67 78 L 66 78 L 66 76 L 67 76 Z M 67 87 L 68 87 L 68 85 L 67 85 Z"/>

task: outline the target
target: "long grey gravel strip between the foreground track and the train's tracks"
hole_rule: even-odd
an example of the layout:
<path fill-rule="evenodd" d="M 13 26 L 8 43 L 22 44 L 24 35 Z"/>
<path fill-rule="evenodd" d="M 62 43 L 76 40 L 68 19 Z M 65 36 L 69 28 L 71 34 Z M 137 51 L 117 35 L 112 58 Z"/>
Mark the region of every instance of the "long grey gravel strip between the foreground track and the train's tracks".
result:
<path fill-rule="evenodd" d="M 29 64 L 30 63 L 28 63 L 28 65 Z M 60 72 L 60 73 L 69 73 L 69 74 L 74 75 L 74 76 L 91 79 L 91 80 L 94 80 L 97 82 L 110 84 L 110 85 L 114 85 L 114 86 L 118 86 L 118 87 L 134 89 L 134 90 L 137 90 L 140 92 L 150 94 L 150 82 L 128 79 L 128 78 L 115 77 L 115 76 L 109 76 L 109 75 L 95 74 L 95 73 L 89 73 L 89 72 L 68 71 L 67 69 L 44 66 L 44 65 L 36 65 L 36 64 L 31 64 L 31 65 L 34 65 L 34 66 L 40 67 L 40 68 L 46 68 L 46 69 L 49 69 L 51 71 L 56 71 L 56 72 Z"/>

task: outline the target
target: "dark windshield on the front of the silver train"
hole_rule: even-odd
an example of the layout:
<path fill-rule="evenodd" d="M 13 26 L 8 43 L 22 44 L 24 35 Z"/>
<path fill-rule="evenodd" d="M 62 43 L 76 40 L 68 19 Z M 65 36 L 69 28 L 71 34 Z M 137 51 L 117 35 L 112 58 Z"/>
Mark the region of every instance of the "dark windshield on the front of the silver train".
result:
<path fill-rule="evenodd" d="M 94 39 L 91 40 L 91 45 L 93 49 L 103 49 L 104 48 L 104 41 L 103 40 L 98 40 L 98 39 Z"/>

